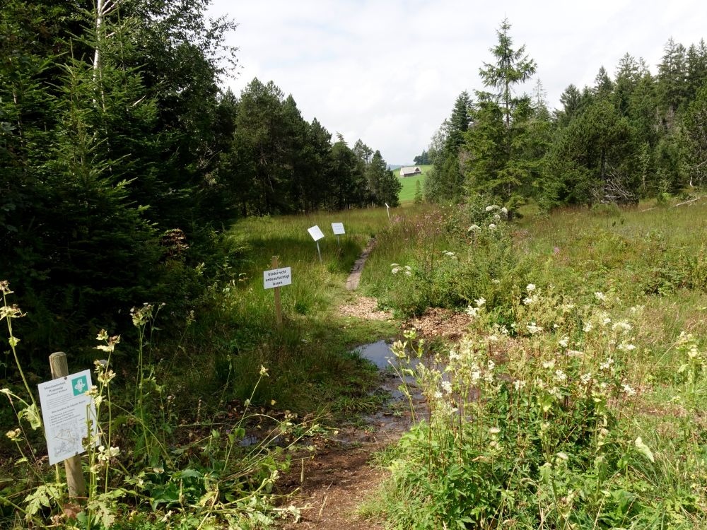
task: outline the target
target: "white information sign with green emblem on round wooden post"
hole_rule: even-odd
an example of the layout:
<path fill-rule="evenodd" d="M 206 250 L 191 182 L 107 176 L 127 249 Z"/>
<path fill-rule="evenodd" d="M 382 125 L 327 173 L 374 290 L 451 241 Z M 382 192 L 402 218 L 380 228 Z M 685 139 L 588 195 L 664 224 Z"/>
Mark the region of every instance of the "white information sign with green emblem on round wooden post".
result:
<path fill-rule="evenodd" d="M 82 440 L 88 437 L 88 425 L 98 445 L 98 422 L 93 398 L 86 395 L 91 387 L 90 370 L 60 377 L 37 385 L 40 391 L 42 420 L 47 435 L 49 464 L 86 452 Z"/>

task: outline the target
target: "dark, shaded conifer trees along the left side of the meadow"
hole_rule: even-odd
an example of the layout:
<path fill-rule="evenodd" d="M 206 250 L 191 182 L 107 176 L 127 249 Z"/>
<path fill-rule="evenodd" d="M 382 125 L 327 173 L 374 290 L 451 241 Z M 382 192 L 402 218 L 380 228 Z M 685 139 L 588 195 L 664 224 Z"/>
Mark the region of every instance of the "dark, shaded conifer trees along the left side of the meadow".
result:
<path fill-rule="evenodd" d="M 240 216 L 397 203 L 380 152 L 332 141 L 274 83 L 219 88 L 235 24 L 208 4 L 4 1 L 0 279 L 30 349 L 145 301 L 187 312 Z"/>

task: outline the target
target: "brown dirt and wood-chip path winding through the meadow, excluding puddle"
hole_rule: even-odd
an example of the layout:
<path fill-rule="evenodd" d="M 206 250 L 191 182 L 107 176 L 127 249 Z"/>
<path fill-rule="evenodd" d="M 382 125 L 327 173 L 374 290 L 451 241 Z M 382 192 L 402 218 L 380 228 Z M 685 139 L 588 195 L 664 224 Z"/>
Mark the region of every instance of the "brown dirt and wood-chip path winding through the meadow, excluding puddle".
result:
<path fill-rule="evenodd" d="M 363 264 L 373 249 L 373 240 L 351 271 L 346 288 L 358 286 Z M 391 319 L 390 312 L 378 310 L 375 298 L 356 296 L 350 304 L 339 307 L 339 313 L 361 319 Z M 405 326 L 415 327 L 428 338 L 459 338 L 469 325 L 466 314 L 448 310 L 429 310 Z M 285 530 L 382 530 L 382 521 L 366 519 L 358 511 L 363 502 L 375 495 L 388 476 L 385 469 L 372 464 L 375 453 L 396 442 L 411 425 L 409 401 L 398 390 L 397 376 L 381 372 L 380 391 L 390 394 L 387 404 L 365 419 L 365 425 L 347 428 L 315 454 L 303 452 L 293 456 L 291 470 L 279 481 L 281 493 L 291 493 L 291 503 L 300 511 L 300 519 L 289 520 Z M 417 418 L 426 414 L 423 396 L 414 382 L 408 382 Z"/>

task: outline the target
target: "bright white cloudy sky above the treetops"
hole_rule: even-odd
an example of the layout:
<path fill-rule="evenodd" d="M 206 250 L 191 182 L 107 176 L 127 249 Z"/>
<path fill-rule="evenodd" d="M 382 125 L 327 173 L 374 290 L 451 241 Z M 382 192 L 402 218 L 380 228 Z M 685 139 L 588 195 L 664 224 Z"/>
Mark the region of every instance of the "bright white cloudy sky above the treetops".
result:
<path fill-rule="evenodd" d="M 613 76 L 628 52 L 650 71 L 667 40 L 707 40 L 704 0 L 212 0 L 227 15 L 240 67 L 224 81 L 236 95 L 257 77 L 291 94 L 304 119 L 317 118 L 353 146 L 361 139 L 389 164 L 411 163 L 430 143 L 462 90 L 483 90 L 501 21 L 513 46 L 537 62 L 518 90 L 542 82 L 551 109 L 573 83 L 591 86 L 601 66 Z"/>

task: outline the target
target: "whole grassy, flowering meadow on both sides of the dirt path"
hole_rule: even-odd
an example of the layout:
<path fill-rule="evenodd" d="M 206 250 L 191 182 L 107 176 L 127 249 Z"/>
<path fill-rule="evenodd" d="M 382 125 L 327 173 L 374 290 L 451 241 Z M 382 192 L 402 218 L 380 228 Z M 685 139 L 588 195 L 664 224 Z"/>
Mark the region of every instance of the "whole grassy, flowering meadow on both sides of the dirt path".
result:
<path fill-rule="evenodd" d="M 392 479 L 368 512 L 406 529 L 707 528 L 707 200 L 649 206 L 529 208 L 516 223 L 486 204 L 409 206 L 390 221 L 375 208 L 236 223 L 223 259 L 204 265 L 221 279 L 190 301 L 181 336 L 160 336 L 155 324 L 170 316 L 157 307 L 134 314 L 137 349 L 99 334 L 107 367 L 119 366 L 96 376 L 103 442 L 116 453 L 83 457 L 90 484 L 76 526 L 166 530 L 170 512 L 179 528 L 274 526 L 266 492 L 288 444 L 380 406 L 375 370 L 351 349 L 444 307 L 471 317 L 469 335 L 419 344 L 408 334 L 396 346 L 428 411 L 380 457 Z M 397 324 L 337 312 L 374 235 L 359 294 Z M 274 255 L 293 280 L 281 329 L 262 286 Z M 9 324 L 21 313 L 3 294 Z M 435 362 L 407 365 L 417 355 Z M 16 379 L 3 390 L 13 404 L 3 413 L 22 429 L 0 442 L 0 526 L 74 524 L 59 471 L 41 457 L 31 387 Z M 286 447 L 243 447 L 260 423 Z"/>

